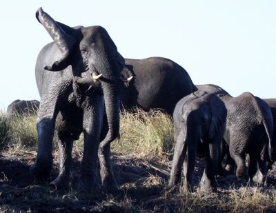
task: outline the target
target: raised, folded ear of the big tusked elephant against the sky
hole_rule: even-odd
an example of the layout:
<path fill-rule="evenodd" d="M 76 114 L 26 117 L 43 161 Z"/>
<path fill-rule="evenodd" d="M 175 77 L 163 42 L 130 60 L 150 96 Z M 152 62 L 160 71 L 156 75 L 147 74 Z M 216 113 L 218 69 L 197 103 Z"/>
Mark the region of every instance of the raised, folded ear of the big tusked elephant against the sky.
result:
<path fill-rule="evenodd" d="M 47 65 L 46 70 L 50 71 L 60 71 L 70 65 L 70 54 L 74 48 L 77 40 L 75 37 L 70 36 L 57 24 L 57 22 L 50 17 L 46 12 L 39 8 L 36 12 L 36 17 L 39 23 L 46 28 L 47 32 L 50 34 L 50 37 L 55 41 L 55 44 L 61 51 L 62 57 L 59 61 L 55 61 L 52 65 Z"/>

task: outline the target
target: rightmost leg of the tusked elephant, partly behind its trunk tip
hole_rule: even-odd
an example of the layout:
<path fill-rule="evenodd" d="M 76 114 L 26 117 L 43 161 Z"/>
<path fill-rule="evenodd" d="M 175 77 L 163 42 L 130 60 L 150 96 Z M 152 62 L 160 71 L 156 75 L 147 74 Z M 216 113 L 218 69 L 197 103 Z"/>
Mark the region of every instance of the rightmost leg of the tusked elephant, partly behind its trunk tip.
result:
<path fill-rule="evenodd" d="M 105 138 L 108 133 L 108 122 L 106 115 L 103 117 L 103 130 L 101 131 L 101 140 Z M 116 189 L 118 183 L 115 179 L 112 163 L 110 161 L 110 144 L 106 148 L 99 148 L 98 152 L 99 164 L 100 164 L 100 174 L 101 174 L 101 183 L 103 187 L 107 189 Z"/>

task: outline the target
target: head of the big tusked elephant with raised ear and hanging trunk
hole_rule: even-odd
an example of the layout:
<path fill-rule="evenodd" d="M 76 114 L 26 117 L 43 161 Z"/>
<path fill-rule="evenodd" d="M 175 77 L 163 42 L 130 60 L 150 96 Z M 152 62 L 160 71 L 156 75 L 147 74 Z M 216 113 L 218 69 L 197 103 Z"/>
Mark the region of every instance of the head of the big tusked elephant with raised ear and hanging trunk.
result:
<path fill-rule="evenodd" d="M 98 81 L 109 126 L 106 138 L 101 141 L 101 147 L 105 147 L 119 134 L 119 81 L 124 58 L 101 26 L 70 28 L 52 19 L 42 8 L 37 10 L 36 17 L 61 52 L 61 57 L 44 69 L 57 72 L 71 65 L 73 79 L 77 77 L 75 83 Z"/>

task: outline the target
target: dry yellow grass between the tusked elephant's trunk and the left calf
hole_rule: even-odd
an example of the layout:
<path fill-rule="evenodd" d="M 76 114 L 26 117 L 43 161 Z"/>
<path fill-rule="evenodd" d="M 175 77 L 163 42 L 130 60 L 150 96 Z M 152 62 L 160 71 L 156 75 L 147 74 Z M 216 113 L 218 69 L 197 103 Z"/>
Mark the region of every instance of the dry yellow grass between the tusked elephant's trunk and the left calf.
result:
<path fill-rule="evenodd" d="M 120 139 L 111 143 L 112 152 L 147 156 L 171 154 L 175 143 L 172 119 L 158 110 L 121 112 Z"/>

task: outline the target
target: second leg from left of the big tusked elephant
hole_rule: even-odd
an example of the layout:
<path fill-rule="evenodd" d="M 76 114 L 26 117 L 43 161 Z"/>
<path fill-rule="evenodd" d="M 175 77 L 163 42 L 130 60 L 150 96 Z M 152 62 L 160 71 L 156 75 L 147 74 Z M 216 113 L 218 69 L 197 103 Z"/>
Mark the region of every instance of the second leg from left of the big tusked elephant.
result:
<path fill-rule="evenodd" d="M 59 176 L 50 183 L 59 188 L 70 187 L 70 168 L 72 163 L 73 140 L 59 139 Z"/>

